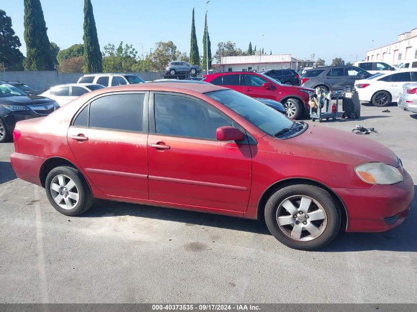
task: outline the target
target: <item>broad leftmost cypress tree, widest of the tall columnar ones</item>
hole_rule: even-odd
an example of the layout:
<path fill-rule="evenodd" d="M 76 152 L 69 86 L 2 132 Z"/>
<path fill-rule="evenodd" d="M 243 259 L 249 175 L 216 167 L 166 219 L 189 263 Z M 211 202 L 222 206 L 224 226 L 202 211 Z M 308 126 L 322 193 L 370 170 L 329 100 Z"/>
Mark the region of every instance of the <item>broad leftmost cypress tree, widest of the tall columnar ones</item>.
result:
<path fill-rule="evenodd" d="M 24 38 L 26 42 L 25 70 L 53 70 L 54 62 L 50 48 L 45 19 L 40 0 L 24 0 Z"/>

